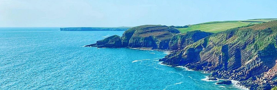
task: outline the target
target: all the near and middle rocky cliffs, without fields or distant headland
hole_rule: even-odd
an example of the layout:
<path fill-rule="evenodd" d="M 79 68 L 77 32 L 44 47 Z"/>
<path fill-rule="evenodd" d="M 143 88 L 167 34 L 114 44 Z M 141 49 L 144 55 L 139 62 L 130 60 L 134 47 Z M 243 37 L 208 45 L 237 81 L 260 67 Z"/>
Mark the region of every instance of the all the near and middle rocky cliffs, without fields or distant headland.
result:
<path fill-rule="evenodd" d="M 211 78 L 236 80 L 250 90 L 269 90 L 277 83 L 277 21 L 215 34 L 142 25 L 86 46 L 171 51 L 159 60 L 162 64 L 210 72 Z"/>

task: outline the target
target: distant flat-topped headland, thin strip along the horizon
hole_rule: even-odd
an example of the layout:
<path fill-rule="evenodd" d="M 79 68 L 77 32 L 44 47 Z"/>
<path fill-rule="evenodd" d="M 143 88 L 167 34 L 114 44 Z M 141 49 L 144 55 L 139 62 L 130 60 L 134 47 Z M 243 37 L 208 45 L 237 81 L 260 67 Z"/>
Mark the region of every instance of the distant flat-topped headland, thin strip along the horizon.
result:
<path fill-rule="evenodd" d="M 61 31 L 126 31 L 130 27 L 66 27 Z"/>

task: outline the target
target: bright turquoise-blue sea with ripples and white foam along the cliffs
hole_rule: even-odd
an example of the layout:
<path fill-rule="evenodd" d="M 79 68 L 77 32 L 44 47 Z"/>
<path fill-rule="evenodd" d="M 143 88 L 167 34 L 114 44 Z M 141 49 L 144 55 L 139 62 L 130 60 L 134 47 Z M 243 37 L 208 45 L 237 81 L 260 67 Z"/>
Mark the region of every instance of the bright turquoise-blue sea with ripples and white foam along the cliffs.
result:
<path fill-rule="evenodd" d="M 160 64 L 162 51 L 82 47 L 123 31 L 0 28 L 1 90 L 243 90 Z M 235 83 L 235 82 L 234 82 Z"/>

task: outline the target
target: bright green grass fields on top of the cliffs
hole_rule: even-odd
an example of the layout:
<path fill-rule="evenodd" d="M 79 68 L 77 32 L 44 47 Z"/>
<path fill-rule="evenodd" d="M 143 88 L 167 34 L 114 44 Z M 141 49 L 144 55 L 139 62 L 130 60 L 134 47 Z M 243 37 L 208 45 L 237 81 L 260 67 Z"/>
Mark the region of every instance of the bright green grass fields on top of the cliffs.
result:
<path fill-rule="evenodd" d="M 214 21 L 214 22 L 205 22 L 187 28 L 177 28 L 181 33 L 186 33 L 194 30 L 201 30 L 205 32 L 221 32 L 235 27 L 242 27 L 251 24 L 259 24 L 263 22 L 269 22 L 277 19 L 251 19 L 251 20 L 238 20 L 238 21 Z"/>

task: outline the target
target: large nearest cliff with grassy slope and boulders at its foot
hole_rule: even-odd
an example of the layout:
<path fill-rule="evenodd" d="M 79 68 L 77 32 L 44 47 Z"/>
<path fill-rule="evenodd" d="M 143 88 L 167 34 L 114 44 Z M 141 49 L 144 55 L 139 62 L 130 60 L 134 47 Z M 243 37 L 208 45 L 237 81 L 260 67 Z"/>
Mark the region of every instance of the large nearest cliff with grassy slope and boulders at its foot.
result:
<path fill-rule="evenodd" d="M 267 90 L 276 85 L 276 40 L 277 21 L 271 21 L 210 35 L 160 61 L 212 72 L 211 77 L 238 80 L 251 90 Z"/>

